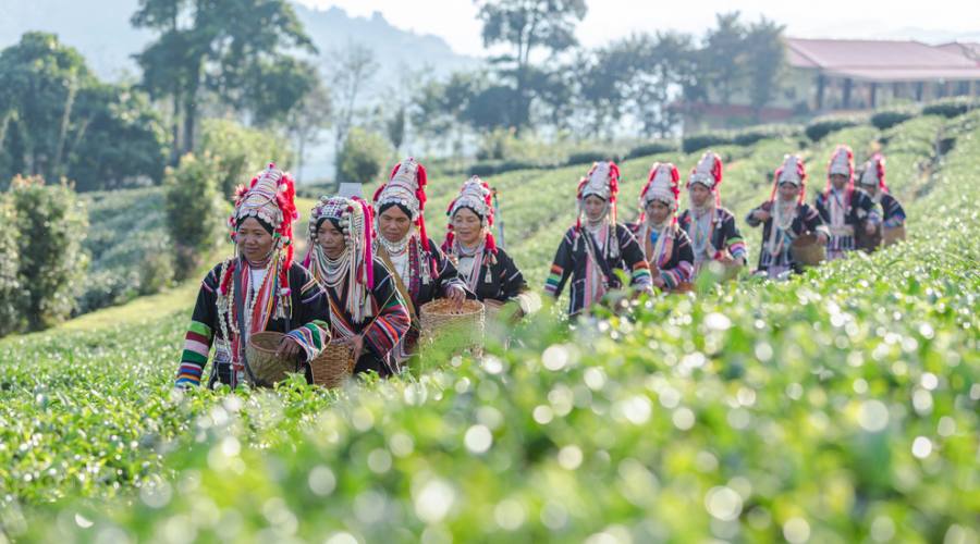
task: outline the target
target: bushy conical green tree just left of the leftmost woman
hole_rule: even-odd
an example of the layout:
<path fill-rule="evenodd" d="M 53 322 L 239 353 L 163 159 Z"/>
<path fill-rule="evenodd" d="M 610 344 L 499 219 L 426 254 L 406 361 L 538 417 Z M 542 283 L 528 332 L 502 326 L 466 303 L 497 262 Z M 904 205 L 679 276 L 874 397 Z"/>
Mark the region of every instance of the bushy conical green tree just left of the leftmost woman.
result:
<path fill-rule="evenodd" d="M 224 224 L 219 170 L 209 153 L 200 159 L 185 154 L 176 169 L 167 170 L 167 227 L 175 249 L 174 280 L 179 282 L 194 275 Z"/>

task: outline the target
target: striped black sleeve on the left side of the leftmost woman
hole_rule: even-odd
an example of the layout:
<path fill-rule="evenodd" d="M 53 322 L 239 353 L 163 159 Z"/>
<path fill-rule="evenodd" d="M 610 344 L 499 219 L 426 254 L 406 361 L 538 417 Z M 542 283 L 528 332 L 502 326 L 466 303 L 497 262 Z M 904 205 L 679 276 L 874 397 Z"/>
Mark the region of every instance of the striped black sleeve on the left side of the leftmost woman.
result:
<path fill-rule="evenodd" d="M 184 349 L 181 353 L 181 364 L 177 368 L 175 385 L 179 387 L 196 386 L 208 363 L 208 354 L 215 341 L 218 308 L 216 289 L 218 272 L 212 269 L 200 283 L 191 324 L 184 334 Z"/>

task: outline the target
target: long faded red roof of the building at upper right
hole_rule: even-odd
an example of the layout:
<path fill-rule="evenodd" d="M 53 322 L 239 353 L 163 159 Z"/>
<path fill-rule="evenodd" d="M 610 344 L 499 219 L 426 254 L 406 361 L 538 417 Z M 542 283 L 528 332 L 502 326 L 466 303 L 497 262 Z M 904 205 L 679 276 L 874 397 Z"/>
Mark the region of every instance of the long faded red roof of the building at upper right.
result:
<path fill-rule="evenodd" d="M 980 79 L 980 62 L 919 41 L 786 38 L 791 66 L 874 82 Z"/>

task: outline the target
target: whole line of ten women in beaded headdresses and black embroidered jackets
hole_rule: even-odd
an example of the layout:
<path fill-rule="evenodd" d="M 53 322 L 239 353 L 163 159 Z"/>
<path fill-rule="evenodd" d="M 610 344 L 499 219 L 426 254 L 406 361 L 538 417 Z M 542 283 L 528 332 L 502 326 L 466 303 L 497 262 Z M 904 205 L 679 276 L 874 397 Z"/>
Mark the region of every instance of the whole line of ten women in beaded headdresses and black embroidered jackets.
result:
<path fill-rule="evenodd" d="M 653 164 L 639 195 L 638 220 L 621 223 L 618 168 L 593 164 L 578 184 L 578 219 L 561 240 L 546 293 L 556 298 L 571 282 L 574 318 L 623 288 L 624 280 L 641 292 L 675 292 L 712 261 L 744 267 L 745 240 L 735 217 L 721 206 L 722 172 L 721 158 L 706 152 L 686 180 L 689 207 L 678 213 L 678 169 Z M 758 273 L 784 277 L 799 270 L 789 248 L 801 235 L 816 235 L 834 259 L 855 249 L 856 230 L 905 221 L 884 184 L 881 156 L 866 163 L 857 187 L 854 154 L 838 146 L 816 209 L 804 201 L 806 180 L 800 158 L 787 156 L 775 171 L 770 198 L 749 213 L 748 224 L 762 226 Z M 426 233 L 426 184 L 425 168 L 409 158 L 371 202 L 322 197 L 309 214 L 309 247 L 298 263 L 293 180 L 269 164 L 236 194 L 229 220 L 236 251 L 201 283 L 176 384 L 201 382 L 212 347 L 208 386 L 254 383 L 246 346 L 258 332 L 283 333 L 279 355 L 301 368 L 334 342 L 354 350 L 356 372 L 385 376 L 400 372 L 416 350 L 418 313 L 427 302 L 446 298 L 462 305 L 475 298 L 489 306 L 512 302 L 516 316 L 532 311 L 535 295 L 493 237 L 487 183 L 473 176 L 463 184 L 446 211 L 442 244 Z"/>

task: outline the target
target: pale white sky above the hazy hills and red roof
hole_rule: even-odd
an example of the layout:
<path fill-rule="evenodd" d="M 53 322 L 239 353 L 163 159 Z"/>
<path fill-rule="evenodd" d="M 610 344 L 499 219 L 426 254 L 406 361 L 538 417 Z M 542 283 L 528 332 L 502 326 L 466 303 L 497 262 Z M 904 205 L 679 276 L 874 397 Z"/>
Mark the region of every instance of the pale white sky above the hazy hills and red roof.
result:
<path fill-rule="evenodd" d="M 298 0 L 326 9 L 342 8 L 350 15 L 381 12 L 392 25 L 445 39 L 457 53 L 485 54 L 477 9 L 471 0 Z M 635 32 L 679 30 L 700 36 L 714 24 L 714 14 L 738 10 L 745 20 L 760 15 L 786 25 L 800 38 L 919 39 L 944 42 L 980 41 L 980 1 L 821 0 L 819 8 L 786 0 L 587 0 L 589 12 L 577 28 L 587 47 L 602 46 Z M 816 4 L 816 2 L 814 2 Z M 669 7 L 666 7 L 669 5 Z"/>

